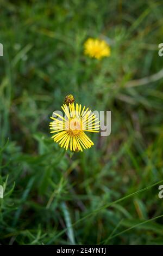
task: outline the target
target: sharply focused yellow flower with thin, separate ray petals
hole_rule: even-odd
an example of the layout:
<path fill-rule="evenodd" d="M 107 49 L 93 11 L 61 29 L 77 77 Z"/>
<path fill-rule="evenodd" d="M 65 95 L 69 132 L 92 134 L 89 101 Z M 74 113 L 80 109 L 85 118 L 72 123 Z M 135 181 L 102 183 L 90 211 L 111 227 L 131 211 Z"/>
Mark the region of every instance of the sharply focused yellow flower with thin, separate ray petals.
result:
<path fill-rule="evenodd" d="M 53 113 L 55 117 L 51 117 L 53 122 L 49 124 L 51 133 L 55 133 L 52 138 L 58 142 L 65 150 L 70 146 L 71 151 L 83 151 L 83 148 L 90 148 L 93 144 L 91 139 L 85 132 L 98 133 L 99 121 L 95 114 L 85 106 L 69 103 L 69 107 L 64 104 L 61 106 L 65 112 L 65 117 L 58 113 Z"/>

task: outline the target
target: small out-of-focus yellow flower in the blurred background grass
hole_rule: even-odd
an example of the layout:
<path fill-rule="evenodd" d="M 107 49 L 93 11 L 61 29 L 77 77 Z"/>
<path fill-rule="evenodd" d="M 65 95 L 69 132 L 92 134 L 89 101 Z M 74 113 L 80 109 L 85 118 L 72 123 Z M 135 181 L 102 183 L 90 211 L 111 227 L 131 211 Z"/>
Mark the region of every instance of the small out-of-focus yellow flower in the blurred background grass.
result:
<path fill-rule="evenodd" d="M 110 56 L 110 46 L 104 40 L 89 38 L 84 44 L 84 53 L 92 58 L 101 59 Z"/>

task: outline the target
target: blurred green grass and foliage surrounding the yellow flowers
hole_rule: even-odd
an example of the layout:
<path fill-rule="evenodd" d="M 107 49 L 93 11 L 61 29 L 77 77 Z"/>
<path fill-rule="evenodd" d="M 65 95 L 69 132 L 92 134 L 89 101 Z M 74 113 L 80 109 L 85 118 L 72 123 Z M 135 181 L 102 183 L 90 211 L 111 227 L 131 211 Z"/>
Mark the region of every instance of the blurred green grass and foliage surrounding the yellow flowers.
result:
<path fill-rule="evenodd" d="M 162 12 L 162 1 L 1 0 L 2 245 L 163 244 L 152 186 L 163 174 Z M 89 37 L 111 56 L 84 56 Z M 72 158 L 48 127 L 70 93 L 112 118 L 111 135 Z"/>

